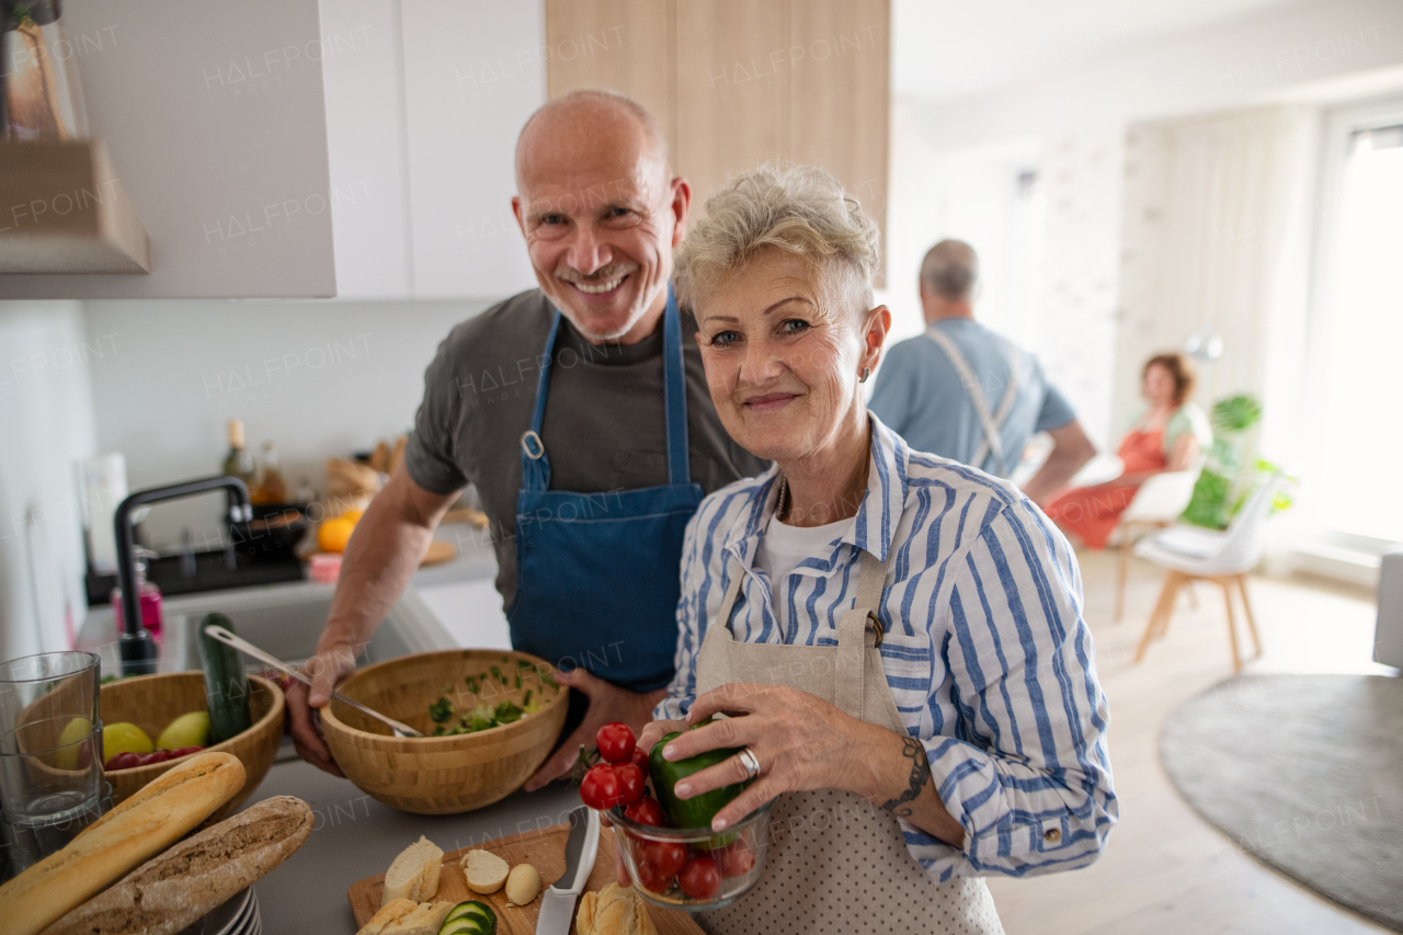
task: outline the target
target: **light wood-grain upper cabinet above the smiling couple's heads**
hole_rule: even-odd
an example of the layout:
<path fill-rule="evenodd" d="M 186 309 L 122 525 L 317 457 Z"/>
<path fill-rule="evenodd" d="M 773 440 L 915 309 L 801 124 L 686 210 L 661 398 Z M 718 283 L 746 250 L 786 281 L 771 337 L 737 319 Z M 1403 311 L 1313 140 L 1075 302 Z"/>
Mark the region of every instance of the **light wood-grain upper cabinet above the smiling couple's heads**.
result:
<path fill-rule="evenodd" d="M 832 171 L 885 227 L 890 32 L 890 0 L 546 0 L 547 81 L 648 107 L 696 211 L 788 159 Z"/>

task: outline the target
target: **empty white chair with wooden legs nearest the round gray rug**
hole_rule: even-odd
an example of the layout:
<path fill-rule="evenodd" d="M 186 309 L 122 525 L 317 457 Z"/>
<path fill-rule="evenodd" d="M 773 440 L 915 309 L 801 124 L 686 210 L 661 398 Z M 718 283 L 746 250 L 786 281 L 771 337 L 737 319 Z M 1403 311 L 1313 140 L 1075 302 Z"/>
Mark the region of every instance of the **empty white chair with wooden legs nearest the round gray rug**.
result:
<path fill-rule="evenodd" d="M 1242 595 L 1242 606 L 1247 614 L 1247 632 L 1251 635 L 1257 656 L 1261 656 L 1257 622 L 1251 616 L 1251 604 L 1247 601 L 1247 571 L 1261 559 L 1263 526 L 1266 526 L 1271 501 L 1281 484 L 1280 472 L 1264 480 L 1247 497 L 1247 503 L 1233 517 L 1226 532 L 1195 526 L 1170 526 L 1146 536 L 1135 546 L 1138 557 L 1153 562 L 1166 570 L 1164 585 L 1159 591 L 1159 599 L 1155 602 L 1149 623 L 1145 626 L 1139 649 L 1135 650 L 1136 663 L 1145 657 L 1150 640 L 1164 636 L 1169 630 L 1169 618 L 1174 612 L 1174 598 L 1179 597 L 1179 590 L 1195 580 L 1212 581 L 1223 590 L 1233 671 L 1242 670 L 1242 658 L 1237 654 L 1237 619 L 1232 606 L 1233 587 Z"/>

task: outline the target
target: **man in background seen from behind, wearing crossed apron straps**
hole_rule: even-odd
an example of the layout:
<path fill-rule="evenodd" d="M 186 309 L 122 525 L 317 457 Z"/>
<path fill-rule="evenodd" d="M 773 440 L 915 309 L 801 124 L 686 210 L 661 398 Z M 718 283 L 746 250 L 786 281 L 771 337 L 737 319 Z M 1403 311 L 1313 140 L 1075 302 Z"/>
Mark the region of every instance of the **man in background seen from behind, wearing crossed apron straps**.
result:
<path fill-rule="evenodd" d="M 1096 455 L 1076 411 L 1033 354 L 974 320 L 979 258 L 941 240 L 920 264 L 926 333 L 891 348 L 870 407 L 916 451 L 1007 477 L 1035 432 L 1052 452 L 1023 493 L 1037 504 Z"/>

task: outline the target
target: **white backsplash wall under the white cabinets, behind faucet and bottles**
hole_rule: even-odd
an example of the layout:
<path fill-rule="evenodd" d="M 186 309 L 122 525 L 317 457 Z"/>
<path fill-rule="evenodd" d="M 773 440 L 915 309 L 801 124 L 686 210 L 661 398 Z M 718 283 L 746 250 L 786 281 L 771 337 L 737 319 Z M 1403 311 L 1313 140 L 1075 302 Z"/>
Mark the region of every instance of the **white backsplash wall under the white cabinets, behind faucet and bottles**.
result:
<path fill-rule="evenodd" d="M 424 368 L 471 302 L 88 302 L 87 336 L 121 354 L 90 361 L 97 438 L 126 456 L 132 490 L 219 473 L 224 424 L 251 451 L 278 445 L 290 484 L 325 489 L 327 458 L 414 423 Z M 153 508 L 157 545 L 220 528 L 220 497 Z"/>

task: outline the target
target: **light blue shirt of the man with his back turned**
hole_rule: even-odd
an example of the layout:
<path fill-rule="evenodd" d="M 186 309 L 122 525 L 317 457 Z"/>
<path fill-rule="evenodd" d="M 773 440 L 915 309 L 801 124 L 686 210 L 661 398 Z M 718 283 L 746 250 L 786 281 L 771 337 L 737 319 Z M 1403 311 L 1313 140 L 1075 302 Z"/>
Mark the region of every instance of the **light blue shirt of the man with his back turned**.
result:
<path fill-rule="evenodd" d="M 1009 386 L 1009 343 L 969 319 L 941 319 L 934 327 L 954 341 L 969 362 L 989 411 L 999 411 L 999 400 Z M 1014 354 L 1019 355 L 1017 397 L 999 432 L 1009 473 L 1019 465 L 1028 438 L 1076 418 L 1072 406 L 1042 375 L 1038 359 L 1021 348 Z M 984 442 L 984 428 L 960 373 L 925 334 L 887 351 L 868 406 L 916 451 L 968 465 Z M 998 470 L 992 453 L 982 465 L 972 466 L 989 473 Z"/>

